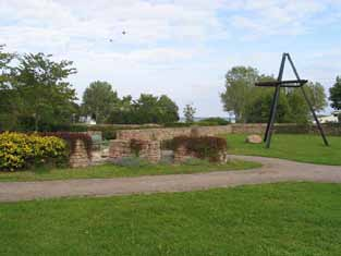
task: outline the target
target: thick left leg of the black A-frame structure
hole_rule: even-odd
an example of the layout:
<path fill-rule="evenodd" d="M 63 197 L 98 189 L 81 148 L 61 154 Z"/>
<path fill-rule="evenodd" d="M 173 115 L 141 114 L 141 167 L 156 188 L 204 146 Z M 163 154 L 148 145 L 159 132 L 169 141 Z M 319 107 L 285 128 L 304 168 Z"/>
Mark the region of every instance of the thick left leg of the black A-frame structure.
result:
<path fill-rule="evenodd" d="M 285 57 L 287 57 L 287 53 L 283 53 L 282 54 L 281 66 L 280 66 L 279 73 L 278 73 L 278 77 L 277 77 L 278 82 L 282 81 L 282 77 L 283 77 Z M 271 144 L 272 129 L 273 129 L 273 122 L 275 122 L 275 118 L 276 118 L 276 113 L 277 113 L 277 105 L 278 105 L 278 100 L 279 100 L 280 88 L 281 88 L 281 85 L 280 84 L 277 85 L 275 94 L 273 94 L 271 114 L 270 114 L 270 119 L 269 119 L 269 122 L 268 122 L 268 125 L 267 125 L 266 135 L 265 135 L 266 136 L 266 147 L 267 148 L 269 148 L 270 144 Z"/>

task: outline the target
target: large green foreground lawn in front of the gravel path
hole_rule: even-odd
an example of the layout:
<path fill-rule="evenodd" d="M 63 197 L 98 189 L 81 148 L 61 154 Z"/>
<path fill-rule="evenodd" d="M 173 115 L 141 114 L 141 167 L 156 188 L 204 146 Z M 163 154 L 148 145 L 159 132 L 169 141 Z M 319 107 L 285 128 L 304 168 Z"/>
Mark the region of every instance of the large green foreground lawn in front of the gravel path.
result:
<path fill-rule="evenodd" d="M 341 185 L 0 204 L 0 255 L 336 256 Z"/>

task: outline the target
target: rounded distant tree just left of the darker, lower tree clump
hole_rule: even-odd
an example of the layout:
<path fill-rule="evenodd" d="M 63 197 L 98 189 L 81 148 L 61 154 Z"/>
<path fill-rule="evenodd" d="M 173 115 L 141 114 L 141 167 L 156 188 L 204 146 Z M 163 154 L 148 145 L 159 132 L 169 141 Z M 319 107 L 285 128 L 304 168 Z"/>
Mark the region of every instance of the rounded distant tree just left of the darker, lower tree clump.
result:
<path fill-rule="evenodd" d="M 111 84 L 96 81 L 85 89 L 82 108 L 85 114 L 95 118 L 96 123 L 103 123 L 118 102 L 118 94 L 112 90 Z"/>

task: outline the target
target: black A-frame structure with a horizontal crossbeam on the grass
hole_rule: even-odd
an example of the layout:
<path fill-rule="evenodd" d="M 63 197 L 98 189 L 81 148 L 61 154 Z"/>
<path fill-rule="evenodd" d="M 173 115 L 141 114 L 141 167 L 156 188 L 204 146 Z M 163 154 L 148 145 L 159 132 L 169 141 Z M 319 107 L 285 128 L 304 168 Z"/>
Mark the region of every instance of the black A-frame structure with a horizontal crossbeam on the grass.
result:
<path fill-rule="evenodd" d="M 282 81 L 282 77 L 283 77 L 283 72 L 284 72 L 284 65 L 285 65 L 285 60 L 289 60 L 289 63 L 296 76 L 296 80 L 293 80 L 293 81 Z M 273 98 L 272 98 L 272 103 L 271 103 L 271 109 L 270 109 L 270 117 L 269 117 L 269 120 L 268 120 L 268 124 L 267 124 L 267 129 L 266 129 L 266 133 L 265 133 L 265 136 L 264 136 L 264 142 L 266 142 L 266 147 L 269 148 L 270 147 L 270 144 L 271 144 L 271 136 L 272 136 L 272 131 L 273 131 L 273 122 L 275 122 L 275 118 L 276 118 L 276 112 L 277 112 L 277 106 L 278 106 L 278 100 L 279 100 L 279 94 L 280 94 L 280 88 L 281 87 L 294 87 L 294 88 L 301 88 L 302 90 L 302 94 L 303 94 L 303 97 L 305 98 L 307 105 L 309 106 L 309 109 L 313 113 L 313 117 L 315 119 L 315 122 L 317 124 L 317 127 L 319 130 L 319 133 L 324 139 L 324 143 L 326 146 L 329 146 L 328 144 L 328 141 L 326 138 L 326 135 L 325 135 L 325 132 L 316 117 L 316 113 L 314 111 L 314 108 L 309 101 L 309 98 L 307 97 L 305 90 L 304 90 L 304 85 L 307 83 L 308 81 L 307 80 L 301 80 L 300 78 L 300 75 L 296 71 L 296 68 L 290 57 L 289 53 L 283 53 L 282 56 L 282 61 L 281 61 L 281 65 L 280 65 L 280 69 L 279 69 L 279 74 L 278 74 L 278 77 L 277 77 L 277 81 L 271 81 L 271 82 L 259 82 L 259 83 L 256 83 L 255 85 L 256 86 L 265 86 L 265 87 L 275 87 L 275 94 L 273 94 Z"/>

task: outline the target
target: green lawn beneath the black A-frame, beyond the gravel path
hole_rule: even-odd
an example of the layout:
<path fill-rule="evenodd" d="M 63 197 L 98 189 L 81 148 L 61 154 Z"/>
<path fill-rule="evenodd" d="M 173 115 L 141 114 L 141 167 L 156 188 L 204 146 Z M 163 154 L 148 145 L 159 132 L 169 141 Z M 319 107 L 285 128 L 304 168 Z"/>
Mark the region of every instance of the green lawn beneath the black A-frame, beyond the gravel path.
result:
<path fill-rule="evenodd" d="M 341 137 L 328 136 L 326 147 L 320 136 L 273 134 L 271 147 L 265 144 L 247 144 L 247 135 L 228 134 L 230 154 L 284 158 L 302 162 L 341 166 Z"/>

